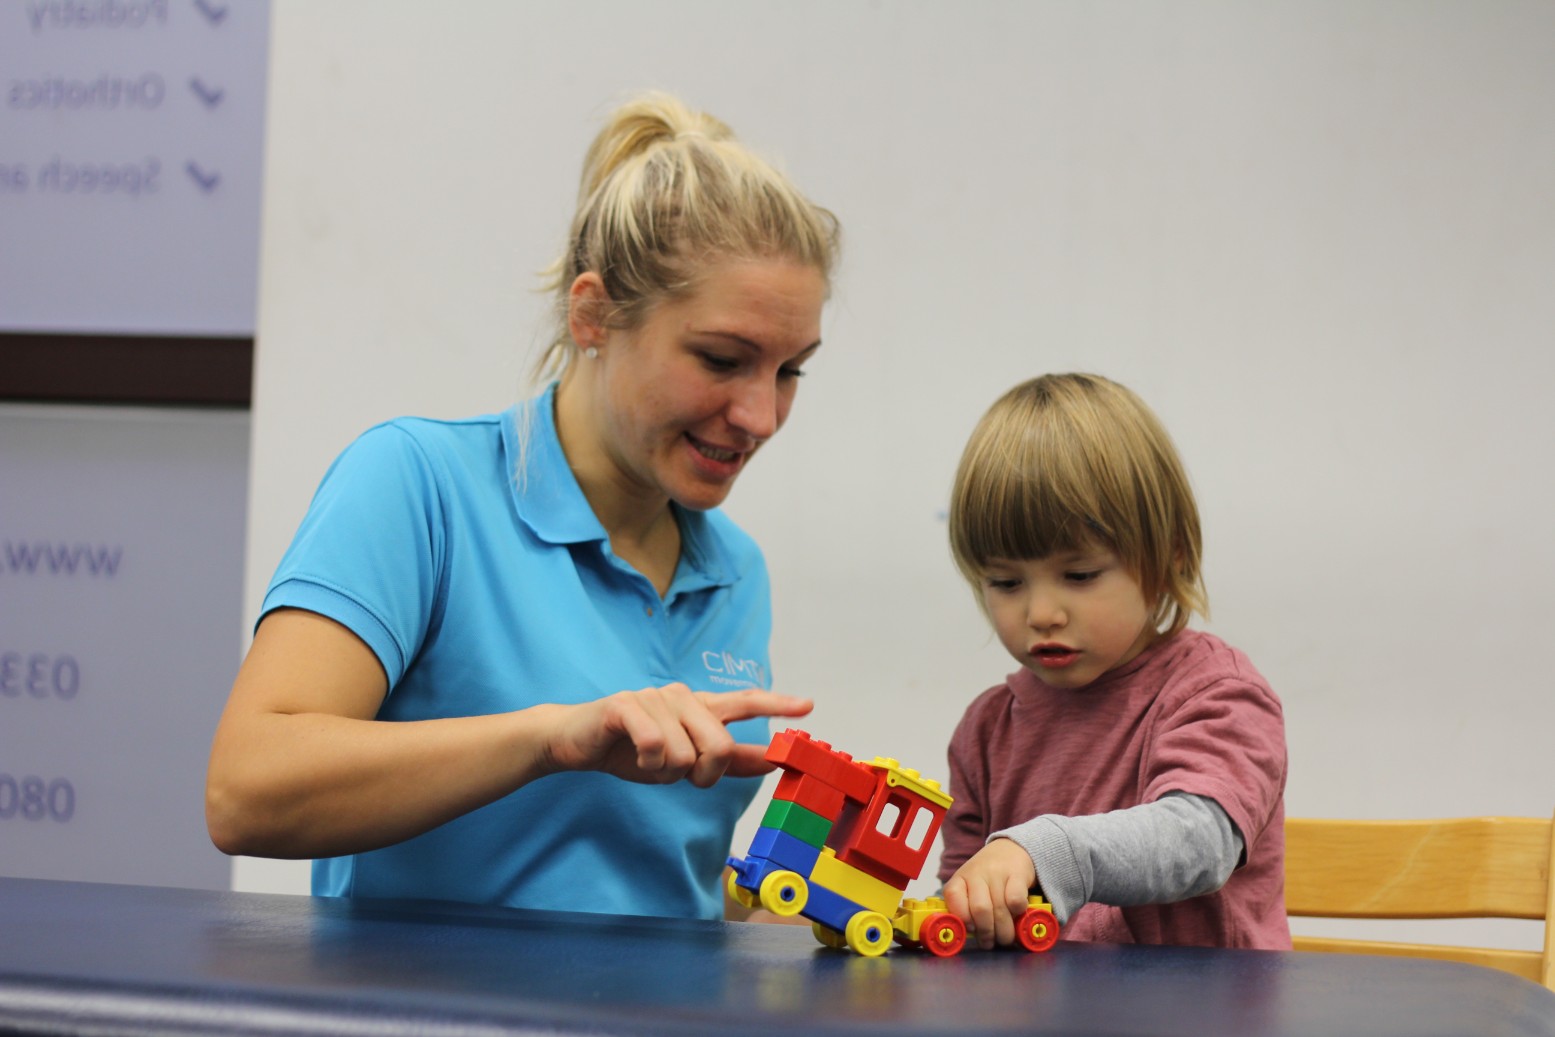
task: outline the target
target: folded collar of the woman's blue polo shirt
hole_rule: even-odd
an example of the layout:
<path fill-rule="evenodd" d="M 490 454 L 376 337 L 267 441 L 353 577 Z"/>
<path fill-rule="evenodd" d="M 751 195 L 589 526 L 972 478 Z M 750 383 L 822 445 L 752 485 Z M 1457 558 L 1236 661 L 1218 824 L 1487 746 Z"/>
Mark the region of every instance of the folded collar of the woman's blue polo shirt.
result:
<path fill-rule="evenodd" d="M 513 507 L 524 525 L 546 543 L 602 543 L 608 549 L 610 536 L 561 451 L 555 403 L 557 382 L 550 382 L 541 395 L 510 407 L 508 420 L 502 421 L 505 470 L 515 473 Z M 524 460 L 522 471 L 519 459 Z M 670 507 L 681 527 L 681 564 L 666 597 L 734 583 L 739 574 L 709 516 L 676 504 Z"/>

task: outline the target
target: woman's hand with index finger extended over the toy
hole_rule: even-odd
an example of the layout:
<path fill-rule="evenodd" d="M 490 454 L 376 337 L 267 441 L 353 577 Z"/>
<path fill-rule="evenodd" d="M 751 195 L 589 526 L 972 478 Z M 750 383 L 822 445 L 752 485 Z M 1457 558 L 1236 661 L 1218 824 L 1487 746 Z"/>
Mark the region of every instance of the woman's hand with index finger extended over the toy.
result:
<path fill-rule="evenodd" d="M 706 788 L 725 774 L 773 770 L 764 745 L 740 745 L 728 726 L 753 717 L 802 717 L 807 698 L 764 690 L 694 692 L 684 684 L 617 692 L 578 706 L 538 706 L 550 732 L 547 770 L 603 771 L 630 782 L 681 779 Z"/>

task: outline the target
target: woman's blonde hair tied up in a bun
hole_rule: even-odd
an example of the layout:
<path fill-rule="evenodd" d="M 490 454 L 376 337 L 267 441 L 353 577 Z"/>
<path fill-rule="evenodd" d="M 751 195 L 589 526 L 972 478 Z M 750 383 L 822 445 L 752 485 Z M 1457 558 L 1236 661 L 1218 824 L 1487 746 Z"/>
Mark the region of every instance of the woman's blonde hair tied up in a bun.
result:
<path fill-rule="evenodd" d="M 734 138 L 720 120 L 650 92 L 616 109 L 583 160 L 578 207 L 561 258 L 546 271 L 557 331 L 535 365 L 544 381 L 571 361 L 569 289 L 605 283 L 613 328 L 697 285 L 711 258 L 785 258 L 830 283 L 837 218 Z"/>

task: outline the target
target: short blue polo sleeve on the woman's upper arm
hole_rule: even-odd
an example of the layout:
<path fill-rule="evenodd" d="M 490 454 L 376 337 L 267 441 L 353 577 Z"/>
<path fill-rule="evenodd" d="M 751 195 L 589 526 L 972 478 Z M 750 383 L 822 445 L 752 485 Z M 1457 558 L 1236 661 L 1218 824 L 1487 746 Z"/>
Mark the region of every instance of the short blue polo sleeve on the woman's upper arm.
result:
<path fill-rule="evenodd" d="M 361 637 L 393 689 L 442 602 L 446 547 L 435 466 L 400 424 L 330 466 L 261 606 L 327 616 Z"/>

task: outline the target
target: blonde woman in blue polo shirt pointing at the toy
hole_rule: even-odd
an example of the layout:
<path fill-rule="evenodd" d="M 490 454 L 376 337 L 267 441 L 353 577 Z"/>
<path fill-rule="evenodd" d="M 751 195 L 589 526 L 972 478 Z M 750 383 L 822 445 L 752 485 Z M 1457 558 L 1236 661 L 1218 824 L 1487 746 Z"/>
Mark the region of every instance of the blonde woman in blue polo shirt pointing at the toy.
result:
<path fill-rule="evenodd" d="M 810 704 L 767 690 L 765 563 L 715 508 L 788 417 L 835 253 L 726 126 L 619 109 L 552 271 L 555 381 L 325 476 L 216 729 L 216 846 L 322 858 L 330 896 L 718 917 L 767 718 Z"/>

